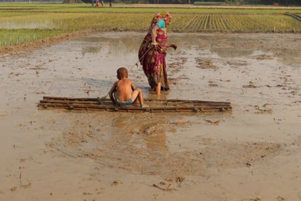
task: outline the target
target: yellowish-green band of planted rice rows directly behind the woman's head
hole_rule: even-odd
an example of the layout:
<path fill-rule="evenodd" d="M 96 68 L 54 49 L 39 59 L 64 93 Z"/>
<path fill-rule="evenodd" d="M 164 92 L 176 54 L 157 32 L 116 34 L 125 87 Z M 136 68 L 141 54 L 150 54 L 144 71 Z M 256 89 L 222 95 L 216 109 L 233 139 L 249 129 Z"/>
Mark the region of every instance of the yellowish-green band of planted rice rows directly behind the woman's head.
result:
<path fill-rule="evenodd" d="M 145 30 L 150 15 L 131 13 L 47 13 L 0 18 L 1 29 L 65 29 L 65 30 Z M 233 14 L 174 14 L 170 28 L 179 31 L 243 30 L 267 31 L 277 27 L 279 31 L 301 31 L 301 23 L 285 15 L 233 15 Z M 205 26 L 206 25 L 206 26 Z"/>

